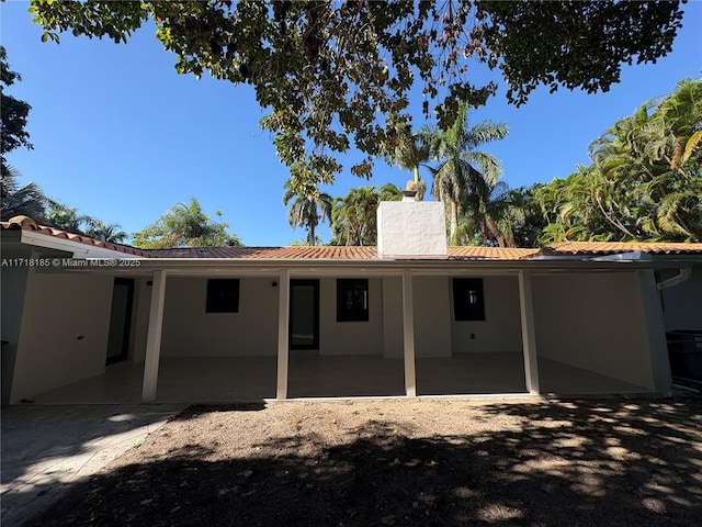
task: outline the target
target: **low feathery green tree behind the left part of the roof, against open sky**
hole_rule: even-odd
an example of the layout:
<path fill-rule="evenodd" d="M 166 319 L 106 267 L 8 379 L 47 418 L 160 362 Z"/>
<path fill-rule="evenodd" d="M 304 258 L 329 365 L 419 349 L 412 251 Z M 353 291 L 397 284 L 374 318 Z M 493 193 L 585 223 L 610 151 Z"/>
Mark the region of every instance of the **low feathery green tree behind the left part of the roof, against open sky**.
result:
<path fill-rule="evenodd" d="M 215 213 L 222 217 L 222 211 Z M 177 203 L 155 223 L 134 234 L 133 244 L 144 249 L 174 247 L 239 246 L 236 234 L 227 232 L 229 224 L 214 222 L 202 211 L 195 198 L 190 203 Z"/>

